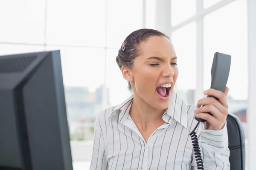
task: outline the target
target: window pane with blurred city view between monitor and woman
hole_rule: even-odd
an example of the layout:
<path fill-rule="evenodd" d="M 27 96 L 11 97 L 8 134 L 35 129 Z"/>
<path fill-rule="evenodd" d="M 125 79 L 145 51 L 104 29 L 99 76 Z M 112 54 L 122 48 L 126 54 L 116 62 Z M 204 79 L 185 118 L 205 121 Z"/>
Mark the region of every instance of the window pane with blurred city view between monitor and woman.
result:
<path fill-rule="evenodd" d="M 71 140 L 93 140 L 95 118 L 102 111 L 105 49 L 47 47 L 47 50 L 58 49 Z"/>

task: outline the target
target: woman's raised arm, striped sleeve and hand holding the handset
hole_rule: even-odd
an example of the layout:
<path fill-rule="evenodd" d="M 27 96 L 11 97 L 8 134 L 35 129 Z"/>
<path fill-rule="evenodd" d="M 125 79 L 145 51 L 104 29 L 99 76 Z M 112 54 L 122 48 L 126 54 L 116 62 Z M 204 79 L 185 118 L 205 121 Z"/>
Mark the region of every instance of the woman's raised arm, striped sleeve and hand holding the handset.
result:
<path fill-rule="evenodd" d="M 230 170 L 227 136 L 228 88 L 224 93 L 215 89 L 204 91 L 204 94 L 213 97 L 205 97 L 198 100 L 194 112 L 196 117 L 206 120 L 201 123 L 200 143 L 204 152 L 204 167 L 206 170 Z M 218 100 L 217 100 L 218 99 Z M 201 107 L 202 106 L 202 107 Z M 206 114 L 212 113 L 212 114 Z"/>

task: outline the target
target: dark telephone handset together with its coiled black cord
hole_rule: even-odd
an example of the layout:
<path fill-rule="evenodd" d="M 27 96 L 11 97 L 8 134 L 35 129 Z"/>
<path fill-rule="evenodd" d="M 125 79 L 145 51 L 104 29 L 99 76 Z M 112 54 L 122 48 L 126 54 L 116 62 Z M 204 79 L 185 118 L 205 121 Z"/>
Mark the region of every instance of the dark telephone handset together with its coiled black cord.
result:
<path fill-rule="evenodd" d="M 230 55 L 219 53 L 219 52 L 216 52 L 214 54 L 214 58 L 212 62 L 212 70 L 211 70 L 211 74 L 212 74 L 211 88 L 218 91 L 222 91 L 224 93 L 227 85 L 228 76 L 230 73 L 230 65 L 231 65 Z M 207 97 L 214 97 L 215 99 L 217 99 L 215 96 L 207 96 Z M 208 114 L 211 114 L 211 113 L 208 113 Z M 201 157 L 201 151 L 200 151 L 198 138 L 195 133 L 195 130 L 200 124 L 200 122 L 205 122 L 205 120 L 197 117 L 195 117 L 195 119 L 198 121 L 198 124 L 195 126 L 194 130 L 192 130 L 192 132 L 189 135 L 191 136 L 191 139 L 192 139 L 193 151 L 195 152 L 194 154 L 195 154 L 198 170 L 204 170 L 203 159 Z"/>

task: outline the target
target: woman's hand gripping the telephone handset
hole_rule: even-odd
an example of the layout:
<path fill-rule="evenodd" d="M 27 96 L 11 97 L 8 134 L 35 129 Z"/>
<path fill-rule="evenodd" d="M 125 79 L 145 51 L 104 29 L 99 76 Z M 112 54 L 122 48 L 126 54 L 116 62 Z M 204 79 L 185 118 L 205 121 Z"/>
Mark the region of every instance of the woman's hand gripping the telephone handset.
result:
<path fill-rule="evenodd" d="M 198 100 L 195 114 L 196 117 L 207 121 L 206 129 L 221 130 L 224 127 L 228 114 L 228 105 L 226 99 L 228 90 L 228 87 L 226 87 L 224 93 L 212 88 L 207 91 L 204 91 L 204 94 L 209 96 L 215 96 L 216 98 L 218 98 L 219 101 L 213 97 L 205 97 L 203 99 Z M 203 107 L 201 107 L 202 105 Z M 212 115 L 206 114 L 208 112 L 212 113 Z"/>

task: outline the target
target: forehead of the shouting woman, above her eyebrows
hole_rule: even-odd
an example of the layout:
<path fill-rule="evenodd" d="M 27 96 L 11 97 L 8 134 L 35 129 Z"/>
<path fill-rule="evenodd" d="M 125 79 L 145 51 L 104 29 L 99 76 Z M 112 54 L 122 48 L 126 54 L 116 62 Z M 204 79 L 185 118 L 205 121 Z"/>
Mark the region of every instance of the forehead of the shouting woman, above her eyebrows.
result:
<path fill-rule="evenodd" d="M 174 57 L 176 56 L 172 42 L 163 36 L 152 36 L 140 46 L 142 57 Z"/>

